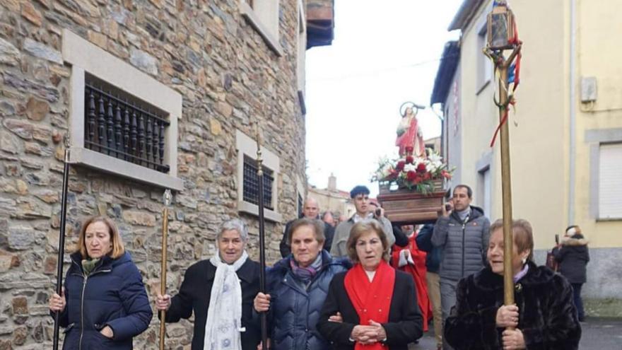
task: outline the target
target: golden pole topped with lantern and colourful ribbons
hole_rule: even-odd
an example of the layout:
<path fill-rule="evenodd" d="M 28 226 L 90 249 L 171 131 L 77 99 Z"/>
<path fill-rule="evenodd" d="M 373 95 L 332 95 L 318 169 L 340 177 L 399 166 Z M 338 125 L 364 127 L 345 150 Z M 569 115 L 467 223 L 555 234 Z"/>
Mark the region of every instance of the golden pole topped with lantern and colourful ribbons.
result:
<path fill-rule="evenodd" d="M 501 187 L 503 195 L 503 291 L 505 305 L 514 303 L 514 281 L 512 280 L 512 183 L 510 176 L 510 130 L 507 115 L 510 105 L 514 105 L 514 92 L 520 82 L 520 49 L 522 42 L 518 38 L 518 30 L 514 13 L 508 8 L 507 1 L 495 0 L 493 11 L 488 14 L 488 43 L 483 53 L 495 65 L 499 73 L 499 100 L 495 104 L 499 107 L 499 126 L 495 131 L 491 147 L 494 145 L 497 133 L 500 131 L 501 142 Z M 503 52 L 512 49 L 509 56 Z M 508 69 L 512 67 L 512 93 L 509 91 L 510 81 Z"/>

